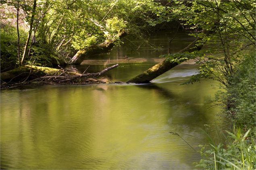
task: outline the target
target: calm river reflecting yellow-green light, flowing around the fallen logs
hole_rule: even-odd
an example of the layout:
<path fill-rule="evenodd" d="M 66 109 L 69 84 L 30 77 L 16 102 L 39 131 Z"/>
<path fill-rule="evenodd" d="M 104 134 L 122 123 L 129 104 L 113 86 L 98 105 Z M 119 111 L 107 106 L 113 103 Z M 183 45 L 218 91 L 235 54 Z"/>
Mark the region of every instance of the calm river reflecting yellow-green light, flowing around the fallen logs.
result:
<path fill-rule="evenodd" d="M 159 62 L 171 37 L 152 35 L 149 41 L 157 50 L 123 45 L 76 68 L 95 72 L 121 62 L 103 79 L 127 81 Z M 178 33 L 173 52 L 191 40 Z M 193 169 L 200 160 L 198 145 L 207 141 L 204 125 L 221 124 L 221 109 L 208 104 L 218 83 L 181 85 L 197 68 L 181 64 L 150 84 L 2 90 L 1 169 Z"/>

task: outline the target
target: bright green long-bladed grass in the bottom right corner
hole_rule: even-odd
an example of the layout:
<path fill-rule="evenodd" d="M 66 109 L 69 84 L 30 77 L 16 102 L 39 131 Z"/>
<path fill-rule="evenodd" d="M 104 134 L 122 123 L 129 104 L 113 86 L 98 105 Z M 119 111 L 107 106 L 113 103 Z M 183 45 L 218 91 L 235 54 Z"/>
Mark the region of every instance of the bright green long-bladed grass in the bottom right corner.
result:
<path fill-rule="evenodd" d="M 240 129 L 236 133 L 226 131 L 226 143 L 210 143 L 209 149 L 201 145 L 202 159 L 196 168 L 207 170 L 234 169 L 254 170 L 256 168 L 256 145 L 250 136 L 250 129 L 241 135 Z M 212 139 L 210 139 L 212 140 Z"/>

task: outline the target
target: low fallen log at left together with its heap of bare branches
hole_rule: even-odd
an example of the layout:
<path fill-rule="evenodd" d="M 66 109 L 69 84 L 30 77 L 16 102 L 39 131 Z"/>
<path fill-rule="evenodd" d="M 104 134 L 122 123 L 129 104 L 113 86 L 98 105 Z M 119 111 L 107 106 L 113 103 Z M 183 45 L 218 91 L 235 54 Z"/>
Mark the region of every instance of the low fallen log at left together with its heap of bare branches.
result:
<path fill-rule="evenodd" d="M 98 73 L 74 73 L 68 70 L 40 67 L 21 66 L 0 74 L 1 89 L 19 87 L 26 84 L 92 84 L 106 83 L 96 77 L 116 68 L 118 64 L 105 68 Z M 85 70 L 86 71 L 86 70 Z M 8 81 L 8 82 L 7 82 Z"/>

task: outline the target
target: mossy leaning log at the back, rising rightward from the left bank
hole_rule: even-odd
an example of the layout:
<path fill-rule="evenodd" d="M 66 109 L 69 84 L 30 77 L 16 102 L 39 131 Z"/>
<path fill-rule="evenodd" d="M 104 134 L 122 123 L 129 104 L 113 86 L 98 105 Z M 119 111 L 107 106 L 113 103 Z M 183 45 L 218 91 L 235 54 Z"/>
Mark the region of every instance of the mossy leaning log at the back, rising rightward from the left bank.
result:
<path fill-rule="evenodd" d="M 116 37 L 114 39 L 106 39 L 104 41 L 104 43 L 102 44 L 97 44 L 94 46 L 89 46 L 83 50 L 79 50 L 75 56 L 73 56 L 73 58 L 71 59 L 69 64 L 81 64 L 81 62 L 83 62 L 83 60 L 85 60 L 85 58 L 89 57 L 89 56 L 93 56 L 93 55 L 98 55 L 98 54 L 102 54 L 102 53 L 107 53 L 110 50 L 112 50 L 112 48 L 114 47 L 114 43 L 117 41 L 117 39 L 124 37 L 125 35 L 127 35 L 127 31 L 126 30 L 122 30 L 120 33 L 118 33 L 116 35 Z"/>

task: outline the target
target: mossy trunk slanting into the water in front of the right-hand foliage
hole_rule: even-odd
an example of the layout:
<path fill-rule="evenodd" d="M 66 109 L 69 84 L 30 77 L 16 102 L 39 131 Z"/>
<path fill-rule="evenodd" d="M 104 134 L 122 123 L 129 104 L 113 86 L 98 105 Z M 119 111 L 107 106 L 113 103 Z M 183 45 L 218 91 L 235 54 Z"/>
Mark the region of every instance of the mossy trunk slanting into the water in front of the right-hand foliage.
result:
<path fill-rule="evenodd" d="M 203 30 L 202 33 L 209 35 L 210 32 Z M 179 53 L 200 50 L 203 47 L 203 45 L 196 46 L 197 41 L 200 41 L 200 40 L 202 40 L 202 38 L 197 37 L 193 42 L 191 42 L 191 44 L 189 44 L 187 47 L 180 50 Z M 167 72 L 168 70 L 177 66 L 178 64 L 179 64 L 178 62 L 170 62 L 168 60 L 164 60 L 152 66 L 148 70 L 144 71 L 142 74 L 139 74 L 136 77 L 133 77 L 132 79 L 127 81 L 127 83 L 150 83 L 151 80 L 162 75 L 163 73 Z"/>

